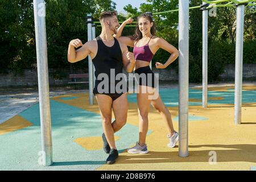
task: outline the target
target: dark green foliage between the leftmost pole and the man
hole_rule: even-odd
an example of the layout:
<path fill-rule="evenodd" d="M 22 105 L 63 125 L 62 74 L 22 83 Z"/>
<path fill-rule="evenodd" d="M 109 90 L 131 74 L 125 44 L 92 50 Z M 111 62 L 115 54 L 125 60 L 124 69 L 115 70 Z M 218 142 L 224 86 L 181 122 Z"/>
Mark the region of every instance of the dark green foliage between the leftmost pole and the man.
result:
<path fill-rule="evenodd" d="M 92 3 L 92 1 L 90 1 Z M 86 14 L 92 12 L 88 1 L 46 1 L 46 25 L 48 67 L 69 67 L 67 47 L 72 39 L 87 40 Z M 87 67 L 86 61 L 74 64 L 75 67 Z"/>

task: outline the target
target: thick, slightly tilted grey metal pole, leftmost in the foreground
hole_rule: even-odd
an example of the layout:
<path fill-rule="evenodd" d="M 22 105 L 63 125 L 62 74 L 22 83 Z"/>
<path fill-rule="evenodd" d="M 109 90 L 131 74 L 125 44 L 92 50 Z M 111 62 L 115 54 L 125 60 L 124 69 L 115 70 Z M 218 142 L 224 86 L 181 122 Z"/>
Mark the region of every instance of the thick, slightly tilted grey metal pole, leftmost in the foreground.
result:
<path fill-rule="evenodd" d="M 38 90 L 42 138 L 42 165 L 52 164 L 51 111 L 49 104 L 49 80 L 46 43 L 46 5 L 44 0 L 34 0 L 36 60 L 38 67 Z"/>

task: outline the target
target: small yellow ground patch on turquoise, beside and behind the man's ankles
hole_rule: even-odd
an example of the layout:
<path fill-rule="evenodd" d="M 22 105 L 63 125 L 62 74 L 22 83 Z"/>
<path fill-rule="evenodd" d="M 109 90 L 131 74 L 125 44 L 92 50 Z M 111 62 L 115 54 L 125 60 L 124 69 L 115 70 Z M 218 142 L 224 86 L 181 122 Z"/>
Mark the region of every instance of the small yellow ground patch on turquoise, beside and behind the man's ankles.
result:
<path fill-rule="evenodd" d="M 119 137 L 115 136 L 115 141 Z M 77 144 L 84 147 L 86 150 L 101 150 L 103 146 L 101 137 L 81 137 L 74 140 Z"/>

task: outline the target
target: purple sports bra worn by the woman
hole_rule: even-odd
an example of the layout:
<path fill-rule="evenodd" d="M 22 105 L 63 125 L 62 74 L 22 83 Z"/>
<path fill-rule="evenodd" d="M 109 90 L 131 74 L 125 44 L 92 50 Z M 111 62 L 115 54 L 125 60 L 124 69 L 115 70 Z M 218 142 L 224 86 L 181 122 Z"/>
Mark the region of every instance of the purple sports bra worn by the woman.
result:
<path fill-rule="evenodd" d="M 151 36 L 152 38 L 152 36 Z M 150 40 L 151 40 L 150 38 Z M 148 40 L 148 43 L 150 42 Z M 145 46 L 142 47 L 136 47 L 136 44 L 134 45 L 133 48 L 133 54 L 135 56 L 135 60 L 142 60 L 142 61 L 147 61 L 150 63 L 150 61 L 153 59 L 154 54 L 151 52 L 148 43 Z"/>

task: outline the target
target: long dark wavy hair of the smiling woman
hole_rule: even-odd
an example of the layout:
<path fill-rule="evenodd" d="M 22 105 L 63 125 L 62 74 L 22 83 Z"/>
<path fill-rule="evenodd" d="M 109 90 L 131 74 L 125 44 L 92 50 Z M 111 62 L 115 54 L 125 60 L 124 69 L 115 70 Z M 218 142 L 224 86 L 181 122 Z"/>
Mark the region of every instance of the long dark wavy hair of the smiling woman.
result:
<path fill-rule="evenodd" d="M 153 22 L 153 26 L 150 29 L 150 32 L 152 35 L 155 35 L 155 31 L 156 31 L 155 22 L 152 19 L 152 16 L 150 14 L 143 13 L 143 14 L 139 15 L 137 18 L 137 27 L 135 29 L 135 33 L 133 36 L 130 37 L 131 40 L 135 40 L 135 42 L 137 42 L 139 39 L 142 39 L 142 32 L 139 30 L 139 19 L 140 18 L 146 18 L 150 21 L 150 23 Z"/>

